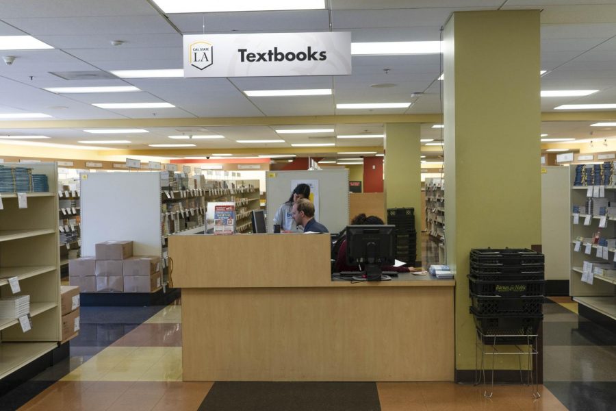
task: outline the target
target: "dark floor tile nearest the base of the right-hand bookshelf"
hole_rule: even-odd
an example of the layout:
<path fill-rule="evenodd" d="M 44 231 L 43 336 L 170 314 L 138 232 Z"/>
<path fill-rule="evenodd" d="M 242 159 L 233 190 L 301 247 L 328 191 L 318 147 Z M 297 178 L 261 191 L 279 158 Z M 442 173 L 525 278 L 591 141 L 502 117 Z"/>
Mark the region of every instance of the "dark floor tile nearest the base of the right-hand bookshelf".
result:
<path fill-rule="evenodd" d="M 616 334 L 591 321 L 544 321 L 543 345 L 616 345 Z"/>

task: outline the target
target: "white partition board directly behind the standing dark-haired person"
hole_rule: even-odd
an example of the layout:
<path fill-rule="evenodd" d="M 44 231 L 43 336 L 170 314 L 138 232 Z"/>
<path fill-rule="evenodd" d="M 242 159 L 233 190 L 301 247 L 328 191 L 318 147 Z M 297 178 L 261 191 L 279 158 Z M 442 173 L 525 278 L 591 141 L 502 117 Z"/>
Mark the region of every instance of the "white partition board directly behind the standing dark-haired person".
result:
<path fill-rule="evenodd" d="M 318 180 L 319 218 L 329 232 L 340 232 L 348 224 L 348 170 L 269 171 L 266 180 L 268 233 L 274 232 L 274 214 L 287 201 L 295 180 Z"/>

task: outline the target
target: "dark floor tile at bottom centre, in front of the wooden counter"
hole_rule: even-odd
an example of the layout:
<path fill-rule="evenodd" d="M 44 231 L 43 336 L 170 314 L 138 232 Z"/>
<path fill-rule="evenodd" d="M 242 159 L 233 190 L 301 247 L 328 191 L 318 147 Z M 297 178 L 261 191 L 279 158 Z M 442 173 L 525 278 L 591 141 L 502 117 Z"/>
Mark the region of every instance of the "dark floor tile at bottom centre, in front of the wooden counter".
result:
<path fill-rule="evenodd" d="M 380 411 L 373 382 L 215 382 L 200 411 Z"/>

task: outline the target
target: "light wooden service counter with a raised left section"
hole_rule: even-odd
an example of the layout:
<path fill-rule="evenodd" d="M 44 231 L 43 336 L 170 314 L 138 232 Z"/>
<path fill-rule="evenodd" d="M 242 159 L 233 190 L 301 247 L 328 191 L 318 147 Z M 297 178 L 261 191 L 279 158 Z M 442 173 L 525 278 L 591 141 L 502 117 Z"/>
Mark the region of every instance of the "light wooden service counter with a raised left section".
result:
<path fill-rule="evenodd" d="M 332 281 L 330 237 L 170 236 L 184 381 L 453 381 L 454 281 Z"/>

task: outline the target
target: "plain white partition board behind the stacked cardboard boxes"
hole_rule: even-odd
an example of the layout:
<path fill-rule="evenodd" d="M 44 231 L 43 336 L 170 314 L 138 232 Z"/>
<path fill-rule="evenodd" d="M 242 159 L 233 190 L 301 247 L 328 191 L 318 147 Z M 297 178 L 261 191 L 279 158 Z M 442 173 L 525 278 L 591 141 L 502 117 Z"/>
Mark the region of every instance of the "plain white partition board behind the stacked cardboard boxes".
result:
<path fill-rule="evenodd" d="M 159 173 L 81 174 L 81 255 L 94 245 L 132 240 L 136 256 L 161 253 Z"/>

